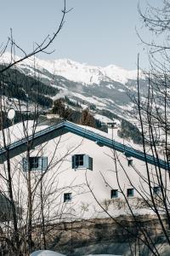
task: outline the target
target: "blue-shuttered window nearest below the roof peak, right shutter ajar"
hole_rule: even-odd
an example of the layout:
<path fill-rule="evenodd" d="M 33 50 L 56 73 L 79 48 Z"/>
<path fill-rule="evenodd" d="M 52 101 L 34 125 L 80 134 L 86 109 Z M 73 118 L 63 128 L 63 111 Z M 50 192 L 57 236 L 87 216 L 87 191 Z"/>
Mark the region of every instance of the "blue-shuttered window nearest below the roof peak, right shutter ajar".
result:
<path fill-rule="evenodd" d="M 72 169 L 89 169 L 93 171 L 93 158 L 88 154 L 72 155 Z"/>

